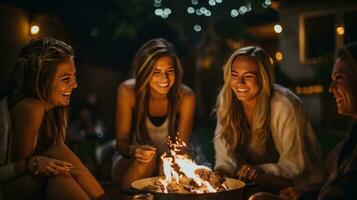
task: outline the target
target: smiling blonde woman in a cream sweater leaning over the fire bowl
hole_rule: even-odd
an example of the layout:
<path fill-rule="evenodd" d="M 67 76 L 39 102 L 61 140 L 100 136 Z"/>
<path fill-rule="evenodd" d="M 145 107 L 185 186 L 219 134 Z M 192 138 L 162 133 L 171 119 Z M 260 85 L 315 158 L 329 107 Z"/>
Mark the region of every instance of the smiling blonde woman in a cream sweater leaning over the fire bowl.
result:
<path fill-rule="evenodd" d="M 319 184 L 320 147 L 300 99 L 274 84 L 269 55 L 260 47 L 235 51 L 224 67 L 217 99 L 215 170 L 257 181 L 273 191 Z"/>

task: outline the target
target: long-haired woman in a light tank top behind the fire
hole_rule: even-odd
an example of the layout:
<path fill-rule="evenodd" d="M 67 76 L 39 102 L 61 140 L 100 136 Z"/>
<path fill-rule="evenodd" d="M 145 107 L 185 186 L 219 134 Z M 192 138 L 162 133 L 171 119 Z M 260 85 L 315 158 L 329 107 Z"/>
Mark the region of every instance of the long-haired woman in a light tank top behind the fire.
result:
<path fill-rule="evenodd" d="M 137 52 L 134 78 L 118 87 L 116 146 L 112 179 L 122 188 L 158 174 L 165 138 L 189 142 L 195 110 L 193 91 L 182 84 L 182 67 L 174 47 L 152 39 Z"/>

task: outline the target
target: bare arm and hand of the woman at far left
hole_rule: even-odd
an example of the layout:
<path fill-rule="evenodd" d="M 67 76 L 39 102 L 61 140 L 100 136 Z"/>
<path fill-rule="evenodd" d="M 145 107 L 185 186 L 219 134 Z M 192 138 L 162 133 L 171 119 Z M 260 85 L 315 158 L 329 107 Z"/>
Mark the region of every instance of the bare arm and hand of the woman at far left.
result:
<path fill-rule="evenodd" d="M 35 175 L 39 173 L 57 174 L 59 171 L 69 171 L 71 164 L 45 156 L 32 156 L 36 143 L 36 137 L 40 130 L 45 107 L 36 99 L 24 99 L 11 110 L 14 127 L 14 139 L 12 143 L 12 161 L 17 172 L 28 169 Z M 25 159 L 29 158 L 29 163 Z M 36 166 L 36 169 L 34 168 Z"/>

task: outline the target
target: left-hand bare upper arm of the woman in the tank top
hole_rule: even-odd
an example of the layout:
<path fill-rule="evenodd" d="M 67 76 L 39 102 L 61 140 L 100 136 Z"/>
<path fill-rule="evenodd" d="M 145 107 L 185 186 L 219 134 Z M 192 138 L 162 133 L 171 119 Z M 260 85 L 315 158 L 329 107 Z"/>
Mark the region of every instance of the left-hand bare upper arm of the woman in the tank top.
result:
<path fill-rule="evenodd" d="M 116 146 L 117 150 L 122 154 L 128 153 L 131 143 L 130 132 L 134 102 L 135 91 L 133 81 L 125 81 L 118 87 L 115 111 Z"/>

